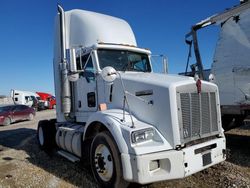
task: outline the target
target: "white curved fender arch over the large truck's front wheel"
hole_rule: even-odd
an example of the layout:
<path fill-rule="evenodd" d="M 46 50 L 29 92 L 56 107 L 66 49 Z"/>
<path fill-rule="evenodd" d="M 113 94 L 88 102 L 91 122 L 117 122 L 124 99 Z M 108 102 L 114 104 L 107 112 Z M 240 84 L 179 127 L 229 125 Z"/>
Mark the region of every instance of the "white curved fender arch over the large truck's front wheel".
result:
<path fill-rule="evenodd" d="M 130 129 L 129 126 L 124 125 L 124 123 L 121 121 L 122 119 L 123 110 L 121 109 L 112 109 L 112 110 L 105 110 L 105 111 L 98 111 L 91 115 L 86 122 L 86 128 L 84 130 L 83 140 L 85 140 L 86 132 L 88 129 L 92 126 L 94 126 L 94 122 L 102 123 L 112 134 L 119 151 L 121 153 L 128 153 L 130 145 L 130 134 L 126 135 L 126 132 L 129 133 L 129 131 L 125 131 L 125 129 Z M 136 118 L 132 117 L 134 120 Z M 131 124 L 130 117 L 128 115 L 128 112 L 126 112 L 126 120 L 129 120 L 126 122 L 126 124 Z M 124 131 L 123 131 L 124 130 Z M 126 139 L 124 139 L 126 138 Z"/>

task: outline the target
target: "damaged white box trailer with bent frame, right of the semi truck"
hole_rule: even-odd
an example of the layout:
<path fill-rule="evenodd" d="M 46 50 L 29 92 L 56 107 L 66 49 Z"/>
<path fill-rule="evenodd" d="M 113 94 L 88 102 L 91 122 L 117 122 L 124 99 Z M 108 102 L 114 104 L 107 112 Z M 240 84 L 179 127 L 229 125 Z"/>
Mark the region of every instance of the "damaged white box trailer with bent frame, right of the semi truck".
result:
<path fill-rule="evenodd" d="M 250 1 L 241 2 L 192 26 L 186 36 L 190 50 L 193 44 L 196 63 L 191 65 L 193 71 L 187 72 L 186 68 L 185 74 L 197 73 L 200 78 L 218 85 L 225 130 L 242 125 L 250 112 Z M 197 31 L 213 24 L 220 25 L 221 29 L 211 70 L 204 70 Z"/>

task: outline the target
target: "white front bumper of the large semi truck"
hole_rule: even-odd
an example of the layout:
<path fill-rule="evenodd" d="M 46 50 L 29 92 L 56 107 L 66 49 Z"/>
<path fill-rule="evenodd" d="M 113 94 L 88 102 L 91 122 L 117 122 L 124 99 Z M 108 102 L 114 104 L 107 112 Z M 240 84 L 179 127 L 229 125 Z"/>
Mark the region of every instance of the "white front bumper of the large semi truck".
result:
<path fill-rule="evenodd" d="M 123 176 L 129 182 L 140 184 L 184 178 L 224 161 L 225 149 L 225 138 L 217 138 L 178 151 L 122 153 Z"/>

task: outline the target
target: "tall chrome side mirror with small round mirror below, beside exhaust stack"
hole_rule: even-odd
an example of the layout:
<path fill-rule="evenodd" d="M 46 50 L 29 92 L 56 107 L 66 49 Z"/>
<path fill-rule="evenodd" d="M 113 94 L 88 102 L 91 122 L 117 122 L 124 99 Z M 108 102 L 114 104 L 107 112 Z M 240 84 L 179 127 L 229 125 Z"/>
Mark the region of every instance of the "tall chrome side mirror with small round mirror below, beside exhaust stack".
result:
<path fill-rule="evenodd" d="M 76 65 L 76 50 L 74 48 L 67 49 L 66 54 L 69 62 L 68 79 L 71 82 L 75 82 L 79 79 L 79 73 L 77 72 Z"/>

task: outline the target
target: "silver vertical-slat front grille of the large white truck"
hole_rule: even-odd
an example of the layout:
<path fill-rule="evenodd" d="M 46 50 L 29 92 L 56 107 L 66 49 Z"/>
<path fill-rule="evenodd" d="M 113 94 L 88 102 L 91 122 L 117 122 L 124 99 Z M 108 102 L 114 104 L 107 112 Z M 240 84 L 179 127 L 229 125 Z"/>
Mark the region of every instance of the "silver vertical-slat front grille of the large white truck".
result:
<path fill-rule="evenodd" d="M 218 134 L 215 92 L 177 93 L 182 143 Z"/>

